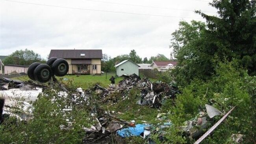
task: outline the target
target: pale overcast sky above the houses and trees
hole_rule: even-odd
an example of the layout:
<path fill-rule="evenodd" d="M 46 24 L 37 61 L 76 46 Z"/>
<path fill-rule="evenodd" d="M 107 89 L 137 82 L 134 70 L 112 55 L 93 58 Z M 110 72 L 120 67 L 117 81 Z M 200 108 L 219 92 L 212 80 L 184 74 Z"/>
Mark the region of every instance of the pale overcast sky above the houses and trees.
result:
<path fill-rule="evenodd" d="M 210 1 L 0 0 L 0 55 L 27 48 L 46 59 L 51 49 L 102 49 L 113 58 L 135 49 L 142 58 L 169 58 L 178 22 L 204 21 L 193 10 L 216 15 Z"/>

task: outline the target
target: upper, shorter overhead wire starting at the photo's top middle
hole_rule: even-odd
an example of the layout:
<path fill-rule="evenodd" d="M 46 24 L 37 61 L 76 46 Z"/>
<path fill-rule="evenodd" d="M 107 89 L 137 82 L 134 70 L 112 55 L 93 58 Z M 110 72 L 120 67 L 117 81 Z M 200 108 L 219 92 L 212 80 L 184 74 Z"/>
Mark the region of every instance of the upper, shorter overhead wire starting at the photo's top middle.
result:
<path fill-rule="evenodd" d="M 89 2 L 100 2 L 100 3 L 106 3 L 106 4 L 118 4 L 118 5 L 130 5 L 130 6 L 137 6 L 137 7 L 149 7 L 149 8 L 156 8 L 156 9 L 171 9 L 171 10 L 178 10 L 178 11 L 195 11 L 191 9 L 175 9 L 175 8 L 169 8 L 169 7 L 154 7 L 154 6 L 148 6 L 148 5 L 136 5 L 136 4 L 124 4 L 124 3 L 117 3 L 117 2 L 104 2 L 99 0 L 85 0 Z M 215 13 L 213 11 L 204 11 L 208 13 Z"/>

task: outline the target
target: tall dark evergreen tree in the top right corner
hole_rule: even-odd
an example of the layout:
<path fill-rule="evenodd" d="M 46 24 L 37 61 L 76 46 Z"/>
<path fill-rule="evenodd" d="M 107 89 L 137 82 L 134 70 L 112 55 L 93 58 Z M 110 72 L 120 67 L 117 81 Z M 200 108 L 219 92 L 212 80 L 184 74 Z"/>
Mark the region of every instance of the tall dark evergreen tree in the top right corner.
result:
<path fill-rule="evenodd" d="M 219 17 L 196 11 L 206 19 L 208 54 L 221 59 L 239 59 L 256 75 L 256 0 L 213 0 Z"/>

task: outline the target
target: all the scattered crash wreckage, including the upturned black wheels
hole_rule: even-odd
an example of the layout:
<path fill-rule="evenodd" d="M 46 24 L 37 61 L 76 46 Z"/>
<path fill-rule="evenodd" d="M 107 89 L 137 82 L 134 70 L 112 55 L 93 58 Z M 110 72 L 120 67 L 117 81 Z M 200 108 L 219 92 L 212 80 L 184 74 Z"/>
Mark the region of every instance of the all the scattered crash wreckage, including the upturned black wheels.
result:
<path fill-rule="evenodd" d="M 4 96 L 4 94 L 1 94 L 2 98 L 0 97 L 0 124 L 10 115 L 26 121 L 28 116 L 31 117 L 32 115 L 31 105 L 28 102 L 35 101 L 39 93 L 43 92 L 46 88 L 51 88 L 52 85 L 57 85 L 62 90 L 62 92 L 59 92 L 59 96 L 65 97 L 65 95 L 68 95 L 71 91 L 68 91 L 67 88 L 65 88 L 65 86 L 63 86 L 54 77 L 54 75 L 65 76 L 68 69 L 69 65 L 65 59 L 50 58 L 46 64 L 33 63 L 30 65 L 28 68 L 28 76 L 31 79 L 30 81 L 17 81 L 8 78 L 0 79 L 0 89 L 7 95 Z M 161 81 L 152 83 L 148 78 L 141 79 L 136 74 L 123 75 L 122 77 L 124 77 L 124 79 L 121 80 L 118 85 L 111 84 L 108 88 L 95 85 L 87 90 L 82 90 L 82 88 L 72 90 L 71 95 L 72 101 L 74 102 L 73 104 L 90 105 L 88 100 L 93 97 L 93 95 L 100 97 L 101 101 L 104 103 L 116 104 L 119 103 L 119 101 L 129 99 L 129 92 L 135 87 L 140 90 L 140 97 L 137 100 L 137 104 L 141 106 L 148 105 L 151 108 L 161 108 L 162 104 L 167 99 L 173 99 L 173 101 L 175 101 L 176 95 L 181 93 L 174 83 L 166 84 Z M 49 82 L 49 85 L 43 84 L 45 82 Z M 24 106 L 22 106 L 23 109 L 29 109 L 28 112 L 31 113 L 26 113 L 25 115 L 11 113 L 11 93 L 13 92 L 9 91 L 12 89 L 15 89 L 16 92 L 20 94 L 22 94 L 22 91 L 32 92 L 32 99 L 31 95 L 30 98 L 25 98 L 25 100 L 23 99 Z M 121 95 L 113 95 L 115 92 L 119 92 Z M 72 112 L 72 109 L 67 107 L 63 109 L 63 111 Z M 125 137 L 138 136 L 143 139 L 147 139 L 149 144 L 155 144 L 154 140 L 150 138 L 150 134 L 158 133 L 159 140 L 164 142 L 166 135 L 165 129 L 173 126 L 172 122 L 167 119 L 167 113 L 159 113 L 157 115 L 157 119 L 166 121 L 163 124 L 157 125 L 148 124 L 147 122 L 136 124 L 135 121 L 119 119 L 116 116 L 117 113 L 119 112 L 109 112 L 100 107 L 94 107 L 89 115 L 89 117 L 93 119 L 94 125 L 91 125 L 89 128 L 83 128 L 83 130 L 86 131 L 83 142 L 85 144 L 110 144 L 113 143 L 114 134 L 115 137 L 119 137 L 119 139 L 115 139 L 118 143 L 121 143 L 121 139 Z M 205 130 L 213 124 L 213 117 L 217 115 L 224 115 L 224 112 L 206 104 L 205 108 L 200 108 L 200 112 L 194 119 L 184 122 L 184 126 L 180 128 L 180 131 L 182 131 L 180 134 L 194 140 L 198 139 L 203 134 L 208 135 L 209 132 L 206 132 Z M 61 125 L 59 128 L 68 129 L 69 127 Z M 232 138 L 237 143 L 241 143 L 243 141 L 243 135 L 240 134 L 238 136 L 234 134 Z"/>

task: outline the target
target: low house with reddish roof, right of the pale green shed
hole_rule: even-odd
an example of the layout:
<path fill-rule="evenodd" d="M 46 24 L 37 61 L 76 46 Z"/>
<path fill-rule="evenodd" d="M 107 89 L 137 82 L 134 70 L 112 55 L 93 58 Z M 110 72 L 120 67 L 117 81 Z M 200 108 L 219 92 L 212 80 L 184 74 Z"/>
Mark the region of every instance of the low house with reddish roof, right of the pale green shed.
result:
<path fill-rule="evenodd" d="M 165 72 L 170 68 L 175 68 L 177 61 L 153 61 L 150 65 L 152 69 L 158 69 L 158 71 Z"/>

